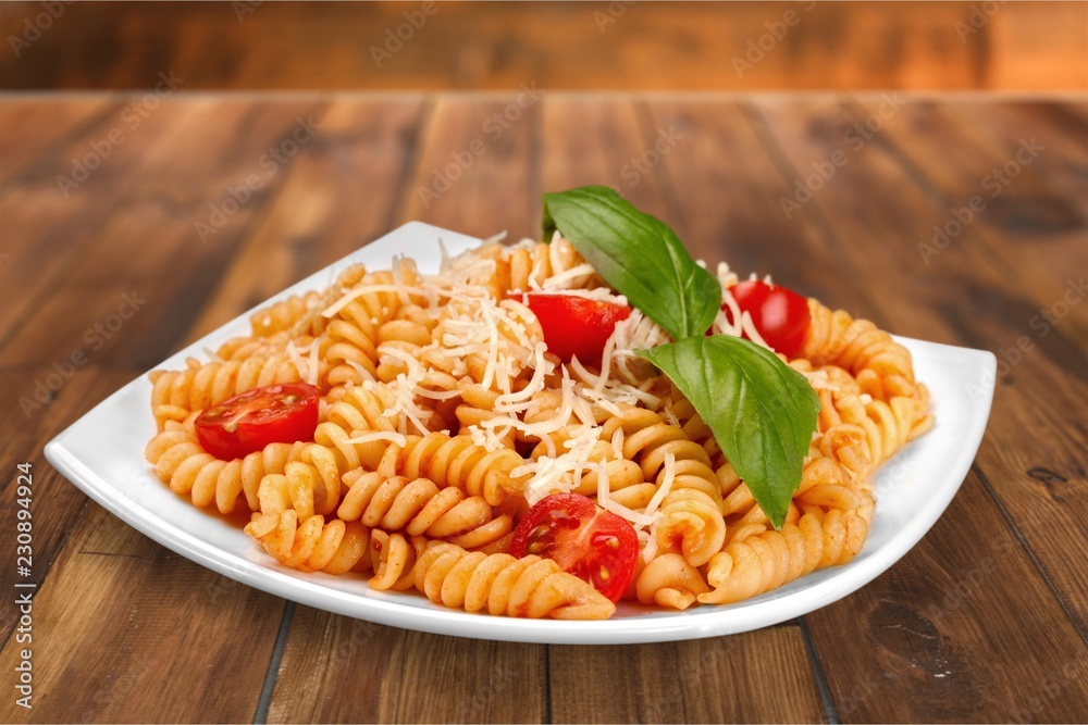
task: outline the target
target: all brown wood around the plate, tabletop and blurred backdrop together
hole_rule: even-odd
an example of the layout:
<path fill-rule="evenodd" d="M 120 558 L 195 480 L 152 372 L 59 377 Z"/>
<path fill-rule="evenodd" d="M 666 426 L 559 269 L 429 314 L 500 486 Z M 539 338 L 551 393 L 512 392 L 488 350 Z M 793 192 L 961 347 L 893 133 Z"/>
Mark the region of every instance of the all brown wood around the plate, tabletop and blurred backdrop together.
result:
<path fill-rule="evenodd" d="M 58 16 L 13 46 L 47 5 Z M 1083 722 L 1088 4 L 450 2 L 379 68 L 370 48 L 419 7 L 0 3 L 0 588 L 23 462 L 38 584 L 33 711 L 13 704 L 25 645 L 0 604 L 0 720 Z M 799 24 L 739 75 L 733 57 L 788 11 Z M 165 99 L 106 92 L 171 72 Z M 527 108 L 523 85 L 543 91 Z M 850 92 L 789 92 L 820 89 Z M 1016 95 L 932 92 L 948 90 Z M 517 116 L 497 138 L 496 113 Z M 311 117 L 312 140 L 261 165 Z M 662 134 L 676 140 L 653 157 Z M 484 153 L 426 199 L 477 139 Z M 1021 164 L 1024 145 L 1041 150 Z M 201 240 L 250 174 L 261 188 Z M 534 235 L 541 192 L 581 184 L 616 185 L 707 260 L 998 355 L 970 473 L 901 562 L 733 637 L 457 639 L 213 574 L 45 461 L 110 392 L 399 224 Z M 937 249 L 974 196 L 985 211 Z M 106 339 L 125 295 L 146 301 Z"/>

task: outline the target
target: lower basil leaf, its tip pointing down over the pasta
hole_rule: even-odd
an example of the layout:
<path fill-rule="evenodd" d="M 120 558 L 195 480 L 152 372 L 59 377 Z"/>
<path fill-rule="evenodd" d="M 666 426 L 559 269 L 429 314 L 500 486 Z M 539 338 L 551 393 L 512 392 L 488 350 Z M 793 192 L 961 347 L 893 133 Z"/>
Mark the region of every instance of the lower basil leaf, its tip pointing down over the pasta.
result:
<path fill-rule="evenodd" d="M 688 397 L 780 528 L 816 430 L 819 398 L 808 380 L 766 348 L 726 335 L 690 337 L 639 354 Z"/>

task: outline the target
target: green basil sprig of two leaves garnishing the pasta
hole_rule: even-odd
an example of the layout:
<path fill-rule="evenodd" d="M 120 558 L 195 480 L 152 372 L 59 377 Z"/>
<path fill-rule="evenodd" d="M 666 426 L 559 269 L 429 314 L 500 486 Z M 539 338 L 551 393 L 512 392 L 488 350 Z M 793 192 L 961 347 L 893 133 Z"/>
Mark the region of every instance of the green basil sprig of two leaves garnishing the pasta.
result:
<path fill-rule="evenodd" d="M 609 188 L 544 195 L 544 240 L 556 229 L 621 295 L 676 342 L 639 354 L 691 401 L 756 503 L 780 528 L 801 484 L 819 399 L 769 350 L 706 337 L 721 305 L 718 280 L 666 224 Z"/>

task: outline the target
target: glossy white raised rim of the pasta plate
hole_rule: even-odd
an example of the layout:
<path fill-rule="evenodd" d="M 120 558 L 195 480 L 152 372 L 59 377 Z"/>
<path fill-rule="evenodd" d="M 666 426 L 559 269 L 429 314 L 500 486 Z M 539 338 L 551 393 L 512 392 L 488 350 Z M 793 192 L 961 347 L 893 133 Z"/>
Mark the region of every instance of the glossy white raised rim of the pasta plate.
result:
<path fill-rule="evenodd" d="M 366 254 L 368 249 L 373 254 L 381 247 L 393 245 L 397 248 L 395 252 L 407 251 L 401 248 L 399 238 L 419 234 L 452 241 L 455 246 L 474 246 L 481 241 L 422 222 L 409 222 L 224 323 L 199 340 L 169 357 L 152 370 L 176 366 L 175 361 L 184 360 L 194 352 L 200 352 L 209 338 L 230 335 L 228 330 L 240 325 L 248 326 L 248 318 L 252 312 L 290 295 L 308 290 L 313 285 L 322 284 L 322 278 L 329 278 L 335 271 L 350 264 L 354 258 Z M 867 585 L 890 570 L 925 537 L 962 486 L 975 460 L 989 420 L 996 384 L 997 358 L 992 352 L 986 350 L 898 336 L 893 336 L 893 338 L 911 349 L 912 355 L 916 354 L 916 350 L 927 350 L 931 354 L 951 353 L 959 357 L 973 357 L 982 373 L 979 389 L 984 395 L 974 401 L 976 407 L 967 418 L 968 439 L 962 441 L 964 445 L 957 449 L 948 468 L 948 485 L 939 489 L 939 496 L 928 499 L 926 505 L 915 512 L 910 520 L 908 533 L 893 536 L 883 545 L 881 557 L 855 560 L 838 568 L 829 578 L 783 596 L 776 597 L 774 592 L 768 592 L 770 596 L 763 595 L 737 604 L 705 605 L 700 610 L 689 610 L 683 616 L 677 616 L 676 612 L 662 611 L 638 617 L 574 622 L 470 614 L 441 607 L 434 609 L 418 605 L 406 607 L 396 600 L 397 597 L 405 595 L 385 595 L 383 597 L 372 592 L 369 596 L 359 596 L 359 593 L 338 588 L 321 586 L 320 580 L 314 579 L 312 574 L 307 575 L 307 578 L 304 579 L 297 573 L 289 573 L 282 567 L 274 568 L 270 563 L 252 562 L 240 554 L 220 549 L 211 542 L 185 532 L 169 520 L 163 518 L 158 512 L 138 505 L 125 505 L 126 501 L 132 504 L 131 500 L 65 446 L 65 440 L 78 435 L 79 427 L 86 425 L 89 418 L 101 414 L 100 411 L 107 410 L 112 401 L 132 392 L 133 386 L 139 386 L 143 380 L 146 380 L 147 373 L 123 385 L 54 436 L 46 445 L 45 455 L 59 473 L 84 493 L 136 530 L 171 551 L 267 593 L 337 614 L 419 632 L 499 641 L 618 645 L 717 637 L 772 626 L 803 616 L 848 597 Z M 904 451 L 905 449 L 899 451 L 897 455 L 903 455 Z M 114 491 L 118 496 L 109 496 L 109 491 Z M 199 509 L 194 510 L 199 511 Z M 237 560 L 237 562 L 232 560 Z M 814 591 L 815 596 L 813 596 Z M 756 608 L 758 608 L 758 612 L 753 611 Z M 705 612 L 702 611 L 704 609 Z M 733 616 L 729 616 L 730 612 Z"/>

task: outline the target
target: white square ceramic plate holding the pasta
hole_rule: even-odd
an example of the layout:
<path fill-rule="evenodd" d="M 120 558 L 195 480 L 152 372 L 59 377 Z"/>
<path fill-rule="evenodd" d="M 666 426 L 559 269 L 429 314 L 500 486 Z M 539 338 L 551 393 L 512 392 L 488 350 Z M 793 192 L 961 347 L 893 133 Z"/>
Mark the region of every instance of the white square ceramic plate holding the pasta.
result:
<path fill-rule="evenodd" d="M 450 254 L 478 239 L 418 222 L 304 279 L 273 298 L 323 288 L 354 262 L 387 268 L 407 253 L 436 271 L 438 239 Z M 272 301 L 272 300 L 270 300 Z M 264 305 L 261 305 L 264 307 Z M 180 370 L 224 340 L 249 333 L 246 313 L 158 367 Z M 929 386 L 935 429 L 911 443 L 877 474 L 877 510 L 865 548 L 851 563 L 802 577 L 762 597 L 684 612 L 622 604 L 606 622 L 527 621 L 468 614 L 417 593 L 367 588 L 359 576 L 301 574 L 274 563 L 239 528 L 196 509 L 160 483 L 144 460 L 154 434 L 151 384 L 133 380 L 46 447 L 46 458 L 89 497 L 164 547 L 233 579 L 304 604 L 409 629 L 460 637 L 572 645 L 620 645 L 729 635 L 791 620 L 845 597 L 888 570 L 917 543 L 948 507 L 975 458 L 993 395 L 996 360 L 989 352 L 902 339 L 917 377 Z"/>

